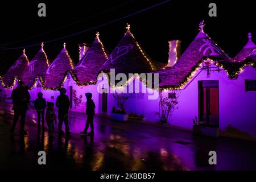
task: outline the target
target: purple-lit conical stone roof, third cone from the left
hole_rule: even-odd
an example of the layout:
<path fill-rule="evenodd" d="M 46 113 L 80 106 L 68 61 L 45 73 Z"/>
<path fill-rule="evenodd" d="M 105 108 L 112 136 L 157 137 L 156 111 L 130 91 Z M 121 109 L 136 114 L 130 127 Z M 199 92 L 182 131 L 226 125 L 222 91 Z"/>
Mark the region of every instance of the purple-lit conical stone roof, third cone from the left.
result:
<path fill-rule="evenodd" d="M 68 71 L 74 68 L 73 60 L 71 56 L 69 56 L 66 44 L 64 43 L 63 46 L 64 48 L 46 71 L 46 79 L 44 81 L 45 88 L 61 88 Z"/>

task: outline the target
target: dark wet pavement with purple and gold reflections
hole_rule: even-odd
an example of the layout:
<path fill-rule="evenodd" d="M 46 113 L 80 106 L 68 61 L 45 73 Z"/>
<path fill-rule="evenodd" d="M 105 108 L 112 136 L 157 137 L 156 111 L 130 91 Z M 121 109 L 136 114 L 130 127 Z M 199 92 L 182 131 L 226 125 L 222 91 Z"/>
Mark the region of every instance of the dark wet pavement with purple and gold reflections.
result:
<path fill-rule="evenodd" d="M 70 113 L 72 135 L 49 140 L 47 129 L 38 133 L 36 114 L 28 111 L 26 130 L 9 133 L 13 111 L 0 105 L 0 169 L 83 170 L 236 170 L 256 169 L 255 142 L 193 136 L 191 132 L 142 122 L 114 122 L 97 115 L 95 135 L 81 137 L 86 115 Z M 47 153 L 39 166 L 38 151 Z M 208 152 L 217 152 L 217 165 L 208 164 Z"/>

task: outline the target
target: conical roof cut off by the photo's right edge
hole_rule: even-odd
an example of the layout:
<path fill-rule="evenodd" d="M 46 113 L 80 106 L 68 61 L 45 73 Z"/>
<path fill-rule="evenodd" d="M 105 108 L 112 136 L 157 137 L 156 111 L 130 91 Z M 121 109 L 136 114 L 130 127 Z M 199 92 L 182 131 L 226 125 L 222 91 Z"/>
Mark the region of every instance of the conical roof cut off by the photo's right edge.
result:
<path fill-rule="evenodd" d="M 245 45 L 245 47 L 241 49 L 241 51 L 236 55 L 236 57 L 233 58 L 233 61 L 234 62 L 244 61 L 246 57 L 248 57 L 250 53 L 254 51 L 254 49 L 256 49 L 256 45 L 251 40 L 251 33 L 249 32 L 247 44 Z"/>

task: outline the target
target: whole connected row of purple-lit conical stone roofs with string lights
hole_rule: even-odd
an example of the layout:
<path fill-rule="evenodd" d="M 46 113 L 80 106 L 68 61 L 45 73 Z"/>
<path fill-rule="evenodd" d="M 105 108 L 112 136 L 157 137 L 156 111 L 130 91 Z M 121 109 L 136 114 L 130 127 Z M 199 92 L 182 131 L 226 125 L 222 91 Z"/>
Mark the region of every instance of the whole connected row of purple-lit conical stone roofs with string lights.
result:
<path fill-rule="evenodd" d="M 96 39 L 75 68 L 65 44 L 63 50 L 49 66 L 42 43 L 42 48 L 28 65 L 27 56 L 23 53 L 6 75 L 0 77 L 2 86 L 11 88 L 14 81 L 20 78 L 28 88 L 32 88 L 36 78 L 39 77 L 44 89 L 57 90 L 63 86 L 68 72 L 71 73 L 77 85 L 86 86 L 96 84 L 97 75 L 101 71 L 109 73 L 109 70 L 114 68 L 115 74 L 125 73 L 128 76 L 129 73 L 159 73 L 160 89 L 182 89 L 206 60 L 208 64 L 214 63 L 216 69 L 224 69 L 231 79 L 237 78 L 238 73 L 246 66 L 256 67 L 256 46 L 251 41 L 251 34 L 248 34 L 249 42 L 236 56 L 240 57 L 237 59 L 241 61 L 234 61 L 205 34 L 204 23 L 201 22 L 199 34 L 193 42 L 173 67 L 167 67 L 167 64 L 152 61 L 144 53 L 131 34 L 129 24 L 126 29 L 125 35 L 110 56 L 106 53 L 97 32 Z M 22 64 L 19 66 L 20 61 Z"/>

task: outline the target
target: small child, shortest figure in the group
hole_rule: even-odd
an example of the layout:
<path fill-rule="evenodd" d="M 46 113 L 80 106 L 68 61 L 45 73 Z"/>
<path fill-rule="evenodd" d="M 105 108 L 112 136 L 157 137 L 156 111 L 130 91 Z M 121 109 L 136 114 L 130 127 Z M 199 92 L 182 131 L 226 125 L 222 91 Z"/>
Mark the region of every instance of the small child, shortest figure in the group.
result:
<path fill-rule="evenodd" d="M 47 102 L 47 110 L 46 110 L 46 123 L 48 126 L 48 135 L 49 139 L 53 139 L 53 131 L 54 131 L 54 122 L 57 124 L 55 110 L 53 109 L 53 102 Z"/>

